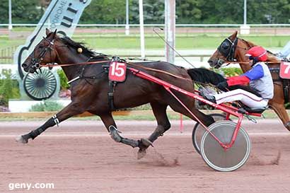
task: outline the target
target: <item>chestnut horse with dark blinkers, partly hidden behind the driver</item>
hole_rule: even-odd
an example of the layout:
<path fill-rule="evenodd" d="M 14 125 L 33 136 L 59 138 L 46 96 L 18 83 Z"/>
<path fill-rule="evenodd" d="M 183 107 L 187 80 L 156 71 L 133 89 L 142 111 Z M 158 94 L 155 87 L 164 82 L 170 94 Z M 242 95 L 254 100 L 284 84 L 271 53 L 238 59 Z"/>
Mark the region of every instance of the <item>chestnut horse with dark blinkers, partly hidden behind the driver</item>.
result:
<path fill-rule="evenodd" d="M 216 52 L 211 55 L 208 60 L 209 65 L 218 69 L 221 65 L 231 62 L 239 62 L 240 68 L 243 72 L 248 71 L 251 66 L 248 63 L 248 57 L 245 56 L 248 49 L 254 47 L 255 44 L 248 42 L 237 37 L 237 31 L 230 37 L 226 38 L 221 45 L 216 49 Z M 267 53 L 267 62 L 269 69 L 279 69 L 280 62 L 277 57 L 272 53 Z M 269 106 L 277 113 L 278 117 L 282 120 L 284 127 L 290 131 L 290 119 L 284 107 L 285 101 L 289 101 L 288 98 L 284 98 L 284 88 L 282 79 L 279 78 L 279 71 L 271 71 L 272 79 L 274 81 L 274 98 L 269 100 Z"/>

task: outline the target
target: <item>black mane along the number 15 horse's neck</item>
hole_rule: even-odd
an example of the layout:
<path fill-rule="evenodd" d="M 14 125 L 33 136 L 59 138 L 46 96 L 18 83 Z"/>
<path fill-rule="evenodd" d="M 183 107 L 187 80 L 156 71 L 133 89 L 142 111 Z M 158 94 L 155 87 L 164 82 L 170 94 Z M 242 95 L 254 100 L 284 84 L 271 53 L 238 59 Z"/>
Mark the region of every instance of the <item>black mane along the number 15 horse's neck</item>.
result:
<path fill-rule="evenodd" d="M 92 57 L 94 59 L 96 58 L 108 58 L 108 55 L 94 52 L 92 49 L 89 49 L 85 46 L 85 43 L 83 42 L 75 42 L 74 40 L 71 40 L 69 37 L 61 37 L 60 40 L 64 43 L 64 45 L 67 45 L 69 47 L 73 47 L 74 49 L 81 48 L 83 49 L 83 54 L 85 54 L 87 57 Z"/>

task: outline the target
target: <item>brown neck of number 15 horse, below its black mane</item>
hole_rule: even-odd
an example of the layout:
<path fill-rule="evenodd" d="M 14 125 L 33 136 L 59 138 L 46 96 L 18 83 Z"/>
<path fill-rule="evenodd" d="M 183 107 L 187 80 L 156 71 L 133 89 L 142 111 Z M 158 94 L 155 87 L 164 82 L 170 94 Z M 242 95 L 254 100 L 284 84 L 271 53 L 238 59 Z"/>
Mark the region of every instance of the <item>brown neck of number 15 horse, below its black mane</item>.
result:
<path fill-rule="evenodd" d="M 74 54 L 69 49 L 68 51 L 61 53 L 62 54 L 59 55 L 59 59 L 57 59 L 58 64 L 76 64 L 87 62 L 89 59 L 83 54 Z M 64 74 L 66 74 L 66 77 L 71 80 L 76 76 L 79 76 L 81 65 L 62 66 L 62 69 L 64 70 Z"/>

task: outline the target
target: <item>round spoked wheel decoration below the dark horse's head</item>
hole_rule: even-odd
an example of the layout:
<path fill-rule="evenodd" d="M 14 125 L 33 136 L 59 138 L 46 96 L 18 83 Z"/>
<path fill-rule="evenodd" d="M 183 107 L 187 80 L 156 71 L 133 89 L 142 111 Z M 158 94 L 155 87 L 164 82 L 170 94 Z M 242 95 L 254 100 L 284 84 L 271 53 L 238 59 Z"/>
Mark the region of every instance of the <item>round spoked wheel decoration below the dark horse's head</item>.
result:
<path fill-rule="evenodd" d="M 23 80 L 25 93 L 33 100 L 52 97 L 57 88 L 57 78 L 52 71 L 42 69 L 39 74 L 26 74 Z"/>

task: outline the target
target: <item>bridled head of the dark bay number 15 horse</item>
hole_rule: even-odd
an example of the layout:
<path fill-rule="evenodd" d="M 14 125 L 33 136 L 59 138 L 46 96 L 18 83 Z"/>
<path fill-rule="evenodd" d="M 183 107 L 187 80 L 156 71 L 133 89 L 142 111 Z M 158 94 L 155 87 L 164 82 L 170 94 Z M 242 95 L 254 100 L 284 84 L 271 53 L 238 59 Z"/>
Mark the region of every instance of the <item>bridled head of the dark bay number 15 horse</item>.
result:
<path fill-rule="evenodd" d="M 21 65 L 26 72 L 34 73 L 42 64 L 54 63 L 57 59 L 57 30 L 50 32 L 46 30 L 47 37 L 35 46 L 33 52 Z"/>

